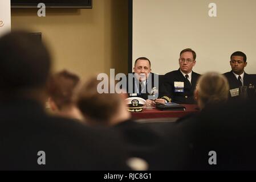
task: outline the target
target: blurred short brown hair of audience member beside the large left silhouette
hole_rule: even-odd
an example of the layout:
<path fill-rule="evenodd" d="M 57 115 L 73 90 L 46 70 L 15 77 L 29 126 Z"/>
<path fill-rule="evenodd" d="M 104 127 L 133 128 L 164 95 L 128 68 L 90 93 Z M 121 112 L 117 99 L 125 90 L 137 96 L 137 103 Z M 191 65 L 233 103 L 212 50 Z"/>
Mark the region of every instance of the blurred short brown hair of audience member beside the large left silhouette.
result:
<path fill-rule="evenodd" d="M 79 76 L 66 70 L 55 73 L 49 78 L 48 94 L 59 109 L 75 102 L 74 93 L 79 80 Z"/>

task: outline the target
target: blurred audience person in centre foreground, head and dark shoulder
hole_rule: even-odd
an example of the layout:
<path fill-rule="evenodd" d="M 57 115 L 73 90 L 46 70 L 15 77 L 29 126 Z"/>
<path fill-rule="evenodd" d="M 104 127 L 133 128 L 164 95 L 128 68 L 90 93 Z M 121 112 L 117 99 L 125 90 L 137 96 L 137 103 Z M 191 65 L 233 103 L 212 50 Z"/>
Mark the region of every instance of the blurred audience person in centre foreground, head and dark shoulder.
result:
<path fill-rule="evenodd" d="M 97 92 L 99 83 L 96 77 L 91 78 L 79 92 L 78 107 L 87 118 L 87 123 L 113 127 L 119 131 L 129 155 L 144 159 L 149 170 L 181 169 L 182 162 L 177 159 L 177 155 L 181 156 L 182 150 L 177 151 L 175 147 L 182 141 L 172 134 L 172 139 L 162 137 L 161 133 L 147 123 L 134 121 L 127 110 L 125 95 L 100 94 Z"/>

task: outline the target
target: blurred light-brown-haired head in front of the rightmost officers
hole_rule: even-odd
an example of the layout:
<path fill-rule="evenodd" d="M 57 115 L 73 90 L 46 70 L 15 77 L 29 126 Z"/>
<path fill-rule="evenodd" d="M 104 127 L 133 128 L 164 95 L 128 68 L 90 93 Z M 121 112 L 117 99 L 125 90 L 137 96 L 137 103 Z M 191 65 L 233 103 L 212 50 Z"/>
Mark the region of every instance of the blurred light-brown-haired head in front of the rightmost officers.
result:
<path fill-rule="evenodd" d="M 206 105 L 226 102 L 229 98 L 229 83 L 219 73 L 206 73 L 198 79 L 194 96 L 200 109 Z"/>

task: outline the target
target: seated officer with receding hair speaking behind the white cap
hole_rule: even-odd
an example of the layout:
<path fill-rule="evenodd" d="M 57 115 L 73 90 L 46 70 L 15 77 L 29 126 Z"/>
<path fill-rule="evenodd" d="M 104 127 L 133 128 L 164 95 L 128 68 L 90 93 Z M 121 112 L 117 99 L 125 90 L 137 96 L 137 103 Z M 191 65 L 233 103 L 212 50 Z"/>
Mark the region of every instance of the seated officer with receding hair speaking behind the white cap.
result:
<path fill-rule="evenodd" d="M 147 101 L 147 105 L 155 105 L 150 95 L 152 88 L 159 88 L 158 78 L 158 75 L 151 73 L 151 61 L 147 57 L 139 57 L 135 61 L 133 73 L 127 77 L 128 96 L 141 97 Z"/>

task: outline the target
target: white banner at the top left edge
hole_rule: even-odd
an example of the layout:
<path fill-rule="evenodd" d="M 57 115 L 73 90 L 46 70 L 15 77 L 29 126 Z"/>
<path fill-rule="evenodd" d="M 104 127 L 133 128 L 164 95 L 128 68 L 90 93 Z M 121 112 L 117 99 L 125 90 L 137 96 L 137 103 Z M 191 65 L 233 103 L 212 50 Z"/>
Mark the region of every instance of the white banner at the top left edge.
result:
<path fill-rule="evenodd" d="M 11 31 L 11 1 L 0 1 L 0 36 Z"/>

